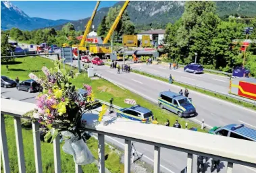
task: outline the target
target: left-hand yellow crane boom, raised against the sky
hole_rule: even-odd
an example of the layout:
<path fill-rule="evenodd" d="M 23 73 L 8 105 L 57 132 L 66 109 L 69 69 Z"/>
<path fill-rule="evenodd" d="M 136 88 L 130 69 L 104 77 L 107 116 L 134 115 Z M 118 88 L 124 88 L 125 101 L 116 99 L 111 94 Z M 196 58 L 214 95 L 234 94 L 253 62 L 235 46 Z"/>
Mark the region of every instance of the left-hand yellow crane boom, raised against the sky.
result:
<path fill-rule="evenodd" d="M 89 32 L 90 32 L 90 28 L 91 28 L 91 26 L 92 26 L 92 24 L 93 24 L 93 19 L 95 18 L 95 14 L 96 14 L 96 12 L 97 12 L 97 9 L 98 9 L 98 7 L 99 7 L 99 3 L 100 3 L 101 1 L 97 1 L 97 3 L 96 3 L 96 6 L 95 6 L 95 9 L 93 10 L 93 14 L 91 15 L 91 18 L 90 18 L 90 20 L 88 20 L 88 22 L 87 22 L 87 24 L 86 24 L 86 28 L 85 28 L 85 30 L 84 30 L 84 35 L 82 36 L 82 40 L 80 41 L 80 44 L 79 45 L 72 45 L 72 47 L 78 47 L 79 48 L 79 50 L 83 50 L 83 51 L 85 51 L 85 50 L 87 50 L 87 48 L 86 48 L 86 38 L 87 38 L 87 35 L 89 34 Z"/>

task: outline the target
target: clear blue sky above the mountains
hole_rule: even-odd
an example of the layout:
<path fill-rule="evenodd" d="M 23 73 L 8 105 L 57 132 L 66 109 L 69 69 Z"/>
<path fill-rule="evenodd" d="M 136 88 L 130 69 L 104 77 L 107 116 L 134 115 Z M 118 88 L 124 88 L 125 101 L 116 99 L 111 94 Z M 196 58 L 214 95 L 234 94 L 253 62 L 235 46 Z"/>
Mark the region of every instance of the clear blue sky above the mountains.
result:
<path fill-rule="evenodd" d="M 97 1 L 10 1 L 30 17 L 49 20 L 80 20 L 91 16 Z M 101 1 L 101 7 L 111 7 L 118 1 Z"/>

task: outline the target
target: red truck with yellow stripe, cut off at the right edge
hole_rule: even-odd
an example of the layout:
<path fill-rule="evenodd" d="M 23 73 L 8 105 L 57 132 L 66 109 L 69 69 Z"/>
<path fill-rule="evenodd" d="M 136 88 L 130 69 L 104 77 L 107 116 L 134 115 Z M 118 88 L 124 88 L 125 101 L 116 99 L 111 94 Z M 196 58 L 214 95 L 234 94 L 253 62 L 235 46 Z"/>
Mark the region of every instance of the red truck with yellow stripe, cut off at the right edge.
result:
<path fill-rule="evenodd" d="M 231 78 L 229 93 L 256 100 L 256 79 L 253 77 Z"/>

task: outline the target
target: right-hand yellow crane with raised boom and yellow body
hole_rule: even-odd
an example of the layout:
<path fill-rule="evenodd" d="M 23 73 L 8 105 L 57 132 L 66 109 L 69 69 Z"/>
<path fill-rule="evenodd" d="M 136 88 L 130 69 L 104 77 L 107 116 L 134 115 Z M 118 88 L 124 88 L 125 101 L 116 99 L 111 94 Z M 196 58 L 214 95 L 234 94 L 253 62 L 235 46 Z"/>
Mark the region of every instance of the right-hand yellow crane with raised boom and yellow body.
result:
<path fill-rule="evenodd" d="M 113 32 L 116 30 L 116 27 L 118 26 L 118 23 L 120 22 L 122 15 L 124 13 L 124 11 L 126 10 L 126 7 L 128 6 L 128 3 L 130 1 L 125 1 L 122 9 L 120 10 L 118 17 L 116 18 L 116 20 L 113 22 L 109 32 L 107 33 L 107 36 L 104 38 L 103 40 L 103 44 L 107 44 L 107 42 L 109 41 L 109 38 L 111 37 L 111 35 L 113 34 Z M 111 53 L 111 49 L 107 48 L 107 47 L 103 47 L 103 46 L 90 46 L 90 52 L 93 54 L 105 54 L 105 53 Z"/>

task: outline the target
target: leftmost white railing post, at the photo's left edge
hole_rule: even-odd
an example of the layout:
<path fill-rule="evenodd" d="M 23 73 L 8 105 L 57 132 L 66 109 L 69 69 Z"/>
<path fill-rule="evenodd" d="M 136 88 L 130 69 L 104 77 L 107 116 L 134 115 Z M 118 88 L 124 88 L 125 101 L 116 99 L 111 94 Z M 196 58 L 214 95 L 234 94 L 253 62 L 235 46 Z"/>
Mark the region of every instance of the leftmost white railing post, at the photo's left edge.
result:
<path fill-rule="evenodd" d="M 3 114 L 1 114 L 1 153 L 3 159 L 3 172 L 9 173 L 11 172 L 9 168 L 9 155 L 8 155 L 8 147 L 7 147 L 7 138 L 5 132 L 5 119 Z"/>

